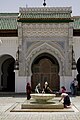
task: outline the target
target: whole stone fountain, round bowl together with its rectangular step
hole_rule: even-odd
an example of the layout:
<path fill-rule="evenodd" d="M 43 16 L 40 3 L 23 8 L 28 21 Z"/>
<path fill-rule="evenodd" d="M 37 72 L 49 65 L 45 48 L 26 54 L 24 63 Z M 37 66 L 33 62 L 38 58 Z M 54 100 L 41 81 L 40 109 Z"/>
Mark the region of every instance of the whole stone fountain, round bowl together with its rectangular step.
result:
<path fill-rule="evenodd" d="M 34 93 L 31 94 L 31 100 L 24 102 L 21 105 L 21 109 L 36 109 L 51 110 L 51 109 L 63 109 L 64 106 L 59 100 L 56 100 L 55 94 Z"/>

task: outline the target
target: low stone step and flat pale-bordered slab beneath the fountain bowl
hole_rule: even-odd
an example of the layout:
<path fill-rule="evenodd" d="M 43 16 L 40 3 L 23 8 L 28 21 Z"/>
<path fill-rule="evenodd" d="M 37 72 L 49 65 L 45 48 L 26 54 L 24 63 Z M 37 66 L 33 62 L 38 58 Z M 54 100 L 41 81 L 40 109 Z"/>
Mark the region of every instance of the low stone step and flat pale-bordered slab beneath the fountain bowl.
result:
<path fill-rule="evenodd" d="M 58 101 L 56 103 L 38 104 L 26 100 L 23 103 L 17 103 L 10 112 L 78 112 L 78 110 L 74 105 L 71 105 L 70 108 L 64 108 L 63 104 Z"/>

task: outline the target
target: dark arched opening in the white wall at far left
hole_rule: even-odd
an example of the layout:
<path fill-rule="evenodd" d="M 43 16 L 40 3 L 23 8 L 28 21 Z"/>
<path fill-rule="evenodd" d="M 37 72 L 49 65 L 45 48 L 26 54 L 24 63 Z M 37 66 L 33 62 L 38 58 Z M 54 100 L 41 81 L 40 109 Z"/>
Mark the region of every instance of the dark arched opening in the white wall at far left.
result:
<path fill-rule="evenodd" d="M 15 91 L 15 59 L 8 54 L 0 56 L 0 91 Z"/>

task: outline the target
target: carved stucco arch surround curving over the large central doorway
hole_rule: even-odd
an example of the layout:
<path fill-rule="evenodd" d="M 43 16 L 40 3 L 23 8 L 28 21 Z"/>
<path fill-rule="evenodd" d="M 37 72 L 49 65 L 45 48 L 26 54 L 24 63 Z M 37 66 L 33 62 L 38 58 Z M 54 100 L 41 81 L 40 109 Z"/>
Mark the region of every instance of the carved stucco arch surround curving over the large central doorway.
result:
<path fill-rule="evenodd" d="M 59 71 L 59 75 L 63 76 L 64 74 L 64 52 L 63 50 L 60 48 L 60 46 L 56 43 L 54 43 L 54 46 L 52 46 L 49 43 L 43 43 L 38 45 L 37 47 L 34 47 L 32 49 L 32 51 L 27 55 L 26 57 L 26 75 L 27 76 L 31 76 L 32 75 L 32 71 L 31 71 L 31 65 L 33 60 L 40 54 L 42 53 L 49 53 L 52 56 L 54 56 L 60 66 L 60 71 Z"/>

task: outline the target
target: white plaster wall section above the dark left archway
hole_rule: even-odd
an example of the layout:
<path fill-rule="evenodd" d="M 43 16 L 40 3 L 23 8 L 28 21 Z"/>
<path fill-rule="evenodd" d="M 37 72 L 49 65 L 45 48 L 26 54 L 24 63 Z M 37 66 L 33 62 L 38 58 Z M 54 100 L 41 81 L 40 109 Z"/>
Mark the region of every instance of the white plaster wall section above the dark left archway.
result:
<path fill-rule="evenodd" d="M 0 37 L 0 39 L 2 41 L 0 44 L 0 56 L 9 54 L 15 59 L 18 48 L 18 37 Z"/>

